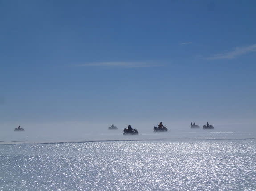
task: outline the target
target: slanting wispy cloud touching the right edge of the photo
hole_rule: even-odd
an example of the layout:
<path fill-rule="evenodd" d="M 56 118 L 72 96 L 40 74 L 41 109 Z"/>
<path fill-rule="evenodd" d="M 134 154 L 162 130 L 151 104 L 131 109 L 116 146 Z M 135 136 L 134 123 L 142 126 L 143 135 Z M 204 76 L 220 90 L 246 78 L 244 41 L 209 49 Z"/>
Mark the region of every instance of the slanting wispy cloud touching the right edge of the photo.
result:
<path fill-rule="evenodd" d="M 207 57 L 207 60 L 218 60 L 218 59 L 233 59 L 241 55 L 248 54 L 250 52 L 256 52 L 256 44 L 252 44 L 247 47 L 236 47 L 232 51 L 225 53 L 215 54 Z"/>

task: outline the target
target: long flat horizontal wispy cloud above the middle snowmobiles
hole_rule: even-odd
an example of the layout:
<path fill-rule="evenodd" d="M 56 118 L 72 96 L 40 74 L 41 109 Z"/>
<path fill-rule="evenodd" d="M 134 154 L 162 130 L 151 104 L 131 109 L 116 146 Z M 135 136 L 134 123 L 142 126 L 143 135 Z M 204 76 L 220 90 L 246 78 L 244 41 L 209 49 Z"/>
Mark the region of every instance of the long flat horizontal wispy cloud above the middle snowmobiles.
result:
<path fill-rule="evenodd" d="M 147 68 L 158 67 L 159 64 L 153 62 L 93 62 L 75 65 L 77 67 L 122 67 L 122 68 Z"/>

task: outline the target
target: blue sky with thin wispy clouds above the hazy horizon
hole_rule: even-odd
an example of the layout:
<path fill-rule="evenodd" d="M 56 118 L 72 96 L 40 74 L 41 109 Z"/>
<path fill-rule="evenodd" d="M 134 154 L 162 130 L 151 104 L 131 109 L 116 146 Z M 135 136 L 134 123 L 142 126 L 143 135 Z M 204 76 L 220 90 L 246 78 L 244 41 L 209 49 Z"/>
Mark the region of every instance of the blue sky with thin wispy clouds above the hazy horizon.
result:
<path fill-rule="evenodd" d="M 256 2 L 0 0 L 0 121 L 255 121 Z"/>

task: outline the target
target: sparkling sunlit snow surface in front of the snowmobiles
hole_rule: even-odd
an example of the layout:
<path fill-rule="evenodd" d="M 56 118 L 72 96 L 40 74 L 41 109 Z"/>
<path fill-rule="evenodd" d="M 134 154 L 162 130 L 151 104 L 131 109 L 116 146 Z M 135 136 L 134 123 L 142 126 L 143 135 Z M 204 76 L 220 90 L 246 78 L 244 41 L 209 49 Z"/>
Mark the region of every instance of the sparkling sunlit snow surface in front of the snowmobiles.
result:
<path fill-rule="evenodd" d="M 256 190 L 256 141 L 0 145 L 0 191 Z"/>

